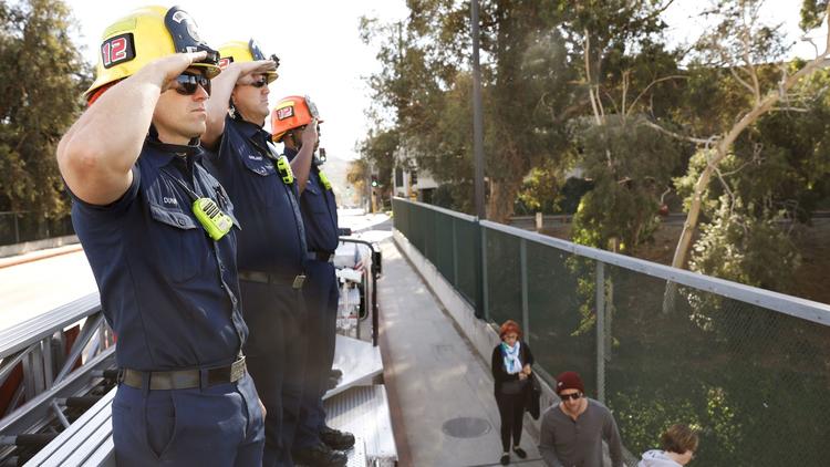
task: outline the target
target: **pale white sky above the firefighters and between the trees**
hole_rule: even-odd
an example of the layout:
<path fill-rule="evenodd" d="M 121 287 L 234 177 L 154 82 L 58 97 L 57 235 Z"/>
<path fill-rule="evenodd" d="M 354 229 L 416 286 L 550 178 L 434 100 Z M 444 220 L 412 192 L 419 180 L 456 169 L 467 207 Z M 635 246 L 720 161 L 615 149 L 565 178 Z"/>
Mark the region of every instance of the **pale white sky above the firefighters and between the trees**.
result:
<path fill-rule="evenodd" d="M 797 40 L 800 3 L 769 0 L 764 14 L 785 22 L 791 39 Z M 79 21 L 82 37 L 77 43 L 85 48 L 86 60 L 95 63 L 104 28 L 152 2 L 69 0 L 68 4 Z M 321 143 L 328 155 L 341 159 L 357 156 L 355 143 L 369 129 L 364 116 L 369 89 L 363 77 L 380 69 L 375 51 L 360 41 L 359 19 L 366 14 L 386 22 L 402 20 L 407 14 L 404 0 L 180 0 L 170 4 L 190 13 L 200 35 L 214 48 L 253 38 L 266 54 L 279 55 L 280 77 L 270 86 L 271 105 L 282 96 L 310 95 L 325 121 Z M 696 14 L 706 6 L 708 2 L 702 0 L 675 1 L 664 14 L 672 42 L 693 41 L 699 35 L 706 24 Z M 797 53 L 809 56 L 812 49 L 801 45 Z"/>

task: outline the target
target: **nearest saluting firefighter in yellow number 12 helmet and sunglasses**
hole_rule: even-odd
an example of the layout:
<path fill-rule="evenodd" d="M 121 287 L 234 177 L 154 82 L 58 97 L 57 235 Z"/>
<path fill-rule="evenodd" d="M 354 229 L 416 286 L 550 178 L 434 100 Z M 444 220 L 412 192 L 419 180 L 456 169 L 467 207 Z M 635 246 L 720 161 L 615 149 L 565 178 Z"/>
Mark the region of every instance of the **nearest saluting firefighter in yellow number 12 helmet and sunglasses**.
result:
<path fill-rule="evenodd" d="M 199 162 L 217 62 L 186 12 L 135 10 L 104 32 L 90 108 L 58 146 L 118 336 L 118 466 L 261 464 L 263 414 L 241 354 L 239 227 Z"/>

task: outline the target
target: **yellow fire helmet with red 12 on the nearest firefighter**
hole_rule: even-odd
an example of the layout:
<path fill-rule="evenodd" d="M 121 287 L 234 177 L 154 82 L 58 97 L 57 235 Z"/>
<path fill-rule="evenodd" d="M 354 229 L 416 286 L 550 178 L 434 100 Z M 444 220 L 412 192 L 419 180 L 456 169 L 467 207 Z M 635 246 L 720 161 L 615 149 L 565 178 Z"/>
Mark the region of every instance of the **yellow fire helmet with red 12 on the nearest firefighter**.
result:
<path fill-rule="evenodd" d="M 221 72 L 219 52 L 199 38 L 196 22 L 178 7 L 143 7 L 115 21 L 102 35 L 95 82 L 85 98 L 104 85 L 132 76 L 147 63 L 179 52 L 207 51 L 193 66 L 204 68 L 208 79 Z"/>

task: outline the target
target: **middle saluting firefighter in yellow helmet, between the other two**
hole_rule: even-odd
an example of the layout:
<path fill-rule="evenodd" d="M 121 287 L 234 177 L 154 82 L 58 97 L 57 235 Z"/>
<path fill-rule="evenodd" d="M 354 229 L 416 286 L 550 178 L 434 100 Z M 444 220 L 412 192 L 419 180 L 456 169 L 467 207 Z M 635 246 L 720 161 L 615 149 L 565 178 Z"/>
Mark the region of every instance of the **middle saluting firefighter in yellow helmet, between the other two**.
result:
<path fill-rule="evenodd" d="M 219 52 L 227 65 L 214 82 L 201 141 L 209 149 L 210 172 L 227 187 L 246 226 L 239 234 L 239 279 L 251 330 L 248 367 L 268 409 L 262 464 L 291 466 L 308 351 L 302 293 L 307 247 L 291 167 L 262 129 L 268 85 L 277 79 L 276 58 L 266 59 L 252 40 L 227 43 Z M 311 151 L 317 129 L 301 137 Z M 314 465 L 343 466 L 347 460 L 331 449 L 314 454 Z"/>

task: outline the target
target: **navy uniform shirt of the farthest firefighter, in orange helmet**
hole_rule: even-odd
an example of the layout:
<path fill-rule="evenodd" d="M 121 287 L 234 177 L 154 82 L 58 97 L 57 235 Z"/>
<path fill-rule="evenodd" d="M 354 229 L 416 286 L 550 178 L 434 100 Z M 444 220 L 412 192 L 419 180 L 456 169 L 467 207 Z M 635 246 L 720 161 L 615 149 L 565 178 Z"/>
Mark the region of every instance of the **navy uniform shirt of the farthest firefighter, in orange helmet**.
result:
<path fill-rule="evenodd" d="M 297 151 L 286 148 L 286 156 L 293 160 Z M 305 241 L 309 251 L 333 253 L 338 249 L 338 204 L 334 191 L 325 189 L 320 179 L 320 169 L 311 164 L 309 180 L 300 196 L 300 211 L 305 225 Z"/>

